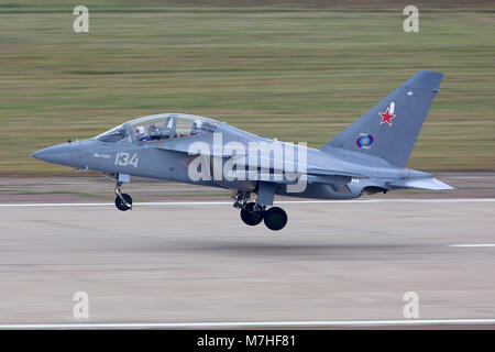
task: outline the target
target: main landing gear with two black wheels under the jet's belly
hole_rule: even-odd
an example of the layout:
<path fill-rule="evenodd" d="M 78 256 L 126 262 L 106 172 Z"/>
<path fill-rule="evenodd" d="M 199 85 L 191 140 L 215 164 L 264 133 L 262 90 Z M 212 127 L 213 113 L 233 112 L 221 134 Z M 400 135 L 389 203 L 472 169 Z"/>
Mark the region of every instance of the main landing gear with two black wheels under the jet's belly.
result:
<path fill-rule="evenodd" d="M 266 209 L 266 206 L 249 199 L 250 194 L 240 190 L 233 205 L 234 208 L 241 209 L 241 219 L 245 224 L 253 227 L 264 221 L 265 226 L 273 231 L 282 230 L 287 224 L 287 213 L 284 209 L 278 207 Z"/>

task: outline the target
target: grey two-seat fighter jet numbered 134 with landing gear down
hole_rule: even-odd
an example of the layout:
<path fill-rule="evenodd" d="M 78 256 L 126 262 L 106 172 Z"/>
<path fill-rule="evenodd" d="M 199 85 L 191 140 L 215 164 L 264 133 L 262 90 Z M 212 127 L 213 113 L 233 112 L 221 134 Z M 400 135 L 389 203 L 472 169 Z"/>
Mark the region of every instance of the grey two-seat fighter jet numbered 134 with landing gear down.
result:
<path fill-rule="evenodd" d="M 163 113 L 32 156 L 110 175 L 119 210 L 132 209 L 122 184 L 141 176 L 232 189 L 245 224 L 264 221 L 280 230 L 287 215 L 273 207 L 275 195 L 351 199 L 394 189 L 452 189 L 431 174 L 405 168 L 442 76 L 417 73 L 320 148 L 202 117 Z"/>

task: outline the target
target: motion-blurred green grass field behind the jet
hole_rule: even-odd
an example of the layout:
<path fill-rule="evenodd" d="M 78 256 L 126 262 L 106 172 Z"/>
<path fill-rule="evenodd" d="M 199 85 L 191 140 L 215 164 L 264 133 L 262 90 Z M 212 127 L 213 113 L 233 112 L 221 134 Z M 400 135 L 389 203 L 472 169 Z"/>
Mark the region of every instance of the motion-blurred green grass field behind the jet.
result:
<path fill-rule="evenodd" d="M 1 176 L 68 174 L 30 153 L 172 111 L 318 147 L 418 69 L 446 77 L 408 167 L 495 170 L 493 7 L 420 7 L 407 34 L 404 4 L 87 1 L 76 34 L 77 3 L 43 3 L 0 4 Z"/>

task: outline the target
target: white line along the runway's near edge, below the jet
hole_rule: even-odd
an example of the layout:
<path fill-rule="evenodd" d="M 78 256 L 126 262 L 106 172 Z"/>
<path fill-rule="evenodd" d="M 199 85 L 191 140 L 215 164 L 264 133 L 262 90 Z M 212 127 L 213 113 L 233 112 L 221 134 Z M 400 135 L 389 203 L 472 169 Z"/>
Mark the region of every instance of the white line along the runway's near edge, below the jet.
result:
<path fill-rule="evenodd" d="M 494 324 L 495 319 L 431 320 L 354 320 L 354 321 L 252 321 L 252 322 L 143 322 L 143 323 L 31 323 L 0 324 L 0 330 L 15 329 L 208 329 L 208 328 L 331 328 L 386 326 Z"/>

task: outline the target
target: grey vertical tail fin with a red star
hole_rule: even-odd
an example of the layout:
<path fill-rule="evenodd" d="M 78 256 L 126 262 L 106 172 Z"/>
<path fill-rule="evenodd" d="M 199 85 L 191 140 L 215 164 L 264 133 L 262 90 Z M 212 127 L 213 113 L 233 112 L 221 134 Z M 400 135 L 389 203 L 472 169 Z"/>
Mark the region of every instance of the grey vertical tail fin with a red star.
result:
<path fill-rule="evenodd" d="M 321 150 L 340 147 L 405 167 L 443 74 L 420 70 Z"/>

